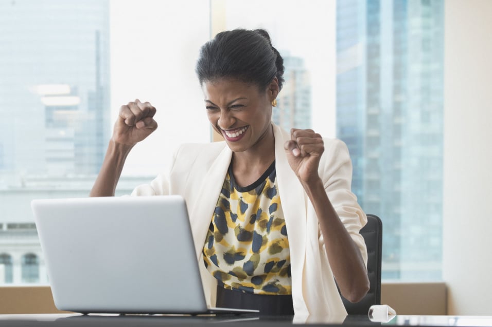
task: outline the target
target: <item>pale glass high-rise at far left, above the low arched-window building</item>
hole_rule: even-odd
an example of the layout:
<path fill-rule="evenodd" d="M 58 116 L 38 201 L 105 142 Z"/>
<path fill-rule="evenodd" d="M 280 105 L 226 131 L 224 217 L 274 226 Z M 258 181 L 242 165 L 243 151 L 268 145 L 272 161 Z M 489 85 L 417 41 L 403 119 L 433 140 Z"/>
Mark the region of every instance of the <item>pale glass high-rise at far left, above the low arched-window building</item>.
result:
<path fill-rule="evenodd" d="M 109 139 L 109 3 L 0 1 L 0 174 L 95 174 Z"/>

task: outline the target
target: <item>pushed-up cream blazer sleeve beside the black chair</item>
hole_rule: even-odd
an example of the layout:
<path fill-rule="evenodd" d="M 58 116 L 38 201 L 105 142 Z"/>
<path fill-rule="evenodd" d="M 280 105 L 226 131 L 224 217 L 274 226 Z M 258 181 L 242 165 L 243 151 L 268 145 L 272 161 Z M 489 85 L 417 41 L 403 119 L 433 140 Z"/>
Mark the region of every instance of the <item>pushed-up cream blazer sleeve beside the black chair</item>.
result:
<path fill-rule="evenodd" d="M 360 249 L 364 263 L 367 265 L 367 248 L 364 238 L 359 233 L 367 223 L 367 217 L 352 193 L 352 162 L 345 143 L 337 139 L 325 140 L 326 160 L 320 166 L 320 176 L 335 211 L 347 229 L 348 234 Z M 320 246 L 324 249 L 323 234 L 319 232 Z M 324 249 L 326 251 L 326 249 Z"/>

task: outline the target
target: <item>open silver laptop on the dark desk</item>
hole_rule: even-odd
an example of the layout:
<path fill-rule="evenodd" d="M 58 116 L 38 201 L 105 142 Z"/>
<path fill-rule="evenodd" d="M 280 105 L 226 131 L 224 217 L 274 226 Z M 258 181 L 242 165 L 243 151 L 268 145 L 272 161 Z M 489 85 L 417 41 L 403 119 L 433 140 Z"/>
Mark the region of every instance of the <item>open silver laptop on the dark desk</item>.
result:
<path fill-rule="evenodd" d="M 258 313 L 207 307 L 181 196 L 42 199 L 31 207 L 59 310 Z"/>

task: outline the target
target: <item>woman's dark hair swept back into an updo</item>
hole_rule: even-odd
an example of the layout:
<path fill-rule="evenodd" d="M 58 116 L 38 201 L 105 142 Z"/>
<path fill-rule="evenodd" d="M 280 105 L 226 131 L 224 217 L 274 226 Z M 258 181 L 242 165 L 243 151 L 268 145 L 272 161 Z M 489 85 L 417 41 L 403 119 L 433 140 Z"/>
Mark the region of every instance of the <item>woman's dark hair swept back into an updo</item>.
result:
<path fill-rule="evenodd" d="M 266 88 L 276 77 L 284 83 L 284 59 L 264 29 L 235 29 L 217 34 L 200 49 L 196 72 L 200 84 L 222 78 Z"/>

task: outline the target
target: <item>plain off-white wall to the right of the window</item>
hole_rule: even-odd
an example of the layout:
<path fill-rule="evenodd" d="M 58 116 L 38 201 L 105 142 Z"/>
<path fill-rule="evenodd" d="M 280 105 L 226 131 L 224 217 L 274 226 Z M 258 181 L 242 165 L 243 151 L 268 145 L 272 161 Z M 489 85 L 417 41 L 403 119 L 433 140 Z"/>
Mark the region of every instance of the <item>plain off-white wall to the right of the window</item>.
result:
<path fill-rule="evenodd" d="M 492 315 L 492 1 L 445 1 L 448 314 Z"/>

